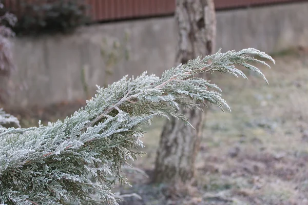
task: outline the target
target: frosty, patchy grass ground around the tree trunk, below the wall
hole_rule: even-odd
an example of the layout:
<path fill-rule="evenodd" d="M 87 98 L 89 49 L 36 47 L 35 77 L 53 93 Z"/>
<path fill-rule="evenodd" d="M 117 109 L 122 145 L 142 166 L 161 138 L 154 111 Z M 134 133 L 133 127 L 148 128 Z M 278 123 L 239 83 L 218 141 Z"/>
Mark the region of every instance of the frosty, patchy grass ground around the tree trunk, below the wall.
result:
<path fill-rule="evenodd" d="M 132 187 L 116 191 L 137 193 L 142 199 L 127 197 L 122 204 L 308 204 L 308 53 L 273 57 L 272 69 L 261 67 L 269 86 L 248 71 L 244 71 L 248 81 L 213 75 L 211 81 L 223 90 L 232 112 L 209 108 L 197 178 L 189 192 L 149 185 L 144 175 L 127 172 Z M 37 118 L 53 121 L 78 105 L 57 106 L 39 114 L 31 111 L 20 118 L 24 126 L 37 125 Z M 132 162 L 148 175 L 164 122 L 155 119 L 145 128 L 142 151 L 146 154 Z"/>

